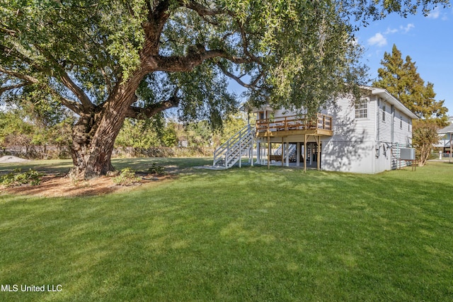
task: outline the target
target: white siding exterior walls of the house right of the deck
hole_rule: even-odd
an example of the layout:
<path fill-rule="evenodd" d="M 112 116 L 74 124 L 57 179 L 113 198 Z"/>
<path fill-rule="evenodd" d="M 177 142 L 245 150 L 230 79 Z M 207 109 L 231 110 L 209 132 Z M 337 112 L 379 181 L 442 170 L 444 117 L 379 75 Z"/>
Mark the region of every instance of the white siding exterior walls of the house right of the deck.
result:
<path fill-rule="evenodd" d="M 323 170 L 391 170 L 396 168 L 399 148 L 411 144 L 411 118 L 377 95 L 367 99 L 367 117 L 355 117 L 355 105 L 349 98 L 337 100 L 323 112 L 333 116 L 333 137 L 322 139 Z"/>

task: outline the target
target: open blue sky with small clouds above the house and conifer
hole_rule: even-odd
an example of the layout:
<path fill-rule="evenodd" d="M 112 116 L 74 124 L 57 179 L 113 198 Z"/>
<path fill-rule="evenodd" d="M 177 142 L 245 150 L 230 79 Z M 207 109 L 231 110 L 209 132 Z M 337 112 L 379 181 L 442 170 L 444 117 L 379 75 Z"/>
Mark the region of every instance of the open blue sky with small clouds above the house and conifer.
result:
<path fill-rule="evenodd" d="M 412 58 L 425 83 L 434 84 L 435 99 L 445 100 L 447 115 L 453 116 L 453 8 L 435 8 L 427 17 L 387 16 L 360 28 L 355 36 L 365 47 L 362 61 L 372 79 L 382 67 L 384 52 L 391 53 L 395 44 L 404 59 Z"/>

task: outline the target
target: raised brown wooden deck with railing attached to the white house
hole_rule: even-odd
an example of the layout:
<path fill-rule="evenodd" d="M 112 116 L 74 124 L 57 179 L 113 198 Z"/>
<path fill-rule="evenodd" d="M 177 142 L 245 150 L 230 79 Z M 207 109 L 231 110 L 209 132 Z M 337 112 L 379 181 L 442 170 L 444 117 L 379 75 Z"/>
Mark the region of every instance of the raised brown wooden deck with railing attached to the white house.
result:
<path fill-rule="evenodd" d="M 332 117 L 317 113 L 314 118 L 304 115 L 289 115 L 256 121 L 257 137 L 287 137 L 289 135 L 333 135 Z"/>

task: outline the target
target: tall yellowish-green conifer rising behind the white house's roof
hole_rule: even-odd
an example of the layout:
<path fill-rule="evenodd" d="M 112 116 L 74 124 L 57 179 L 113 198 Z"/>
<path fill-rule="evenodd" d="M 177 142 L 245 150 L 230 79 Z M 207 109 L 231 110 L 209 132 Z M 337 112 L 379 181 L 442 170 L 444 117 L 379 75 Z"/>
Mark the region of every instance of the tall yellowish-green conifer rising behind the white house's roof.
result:
<path fill-rule="evenodd" d="M 381 64 L 384 67 L 378 69 L 378 81 L 373 86 L 386 88 L 420 119 L 435 122 L 440 127 L 447 124 L 445 100 L 435 100 L 434 84 L 425 85 L 411 57 L 407 56 L 404 62 L 394 45 L 391 54 L 384 53 Z"/>

